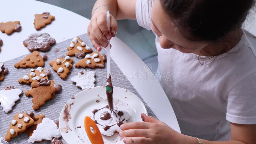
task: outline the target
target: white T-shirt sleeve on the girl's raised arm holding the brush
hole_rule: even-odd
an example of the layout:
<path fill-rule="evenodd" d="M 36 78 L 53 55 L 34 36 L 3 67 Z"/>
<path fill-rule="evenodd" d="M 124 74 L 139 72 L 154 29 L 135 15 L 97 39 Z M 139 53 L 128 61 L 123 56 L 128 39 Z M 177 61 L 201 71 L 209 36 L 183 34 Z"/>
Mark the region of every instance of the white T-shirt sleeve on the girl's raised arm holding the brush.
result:
<path fill-rule="evenodd" d="M 137 0 L 136 1 L 136 19 L 139 26 L 151 30 L 150 25 L 150 13 L 147 0 Z"/>

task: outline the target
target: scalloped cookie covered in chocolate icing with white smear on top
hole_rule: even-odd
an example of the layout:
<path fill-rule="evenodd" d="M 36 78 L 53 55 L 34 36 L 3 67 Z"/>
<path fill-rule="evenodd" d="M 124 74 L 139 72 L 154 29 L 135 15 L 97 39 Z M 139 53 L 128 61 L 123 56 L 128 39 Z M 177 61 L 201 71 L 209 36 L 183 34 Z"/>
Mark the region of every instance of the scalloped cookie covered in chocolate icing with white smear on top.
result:
<path fill-rule="evenodd" d="M 55 43 L 55 39 L 47 33 L 31 34 L 23 41 L 23 45 L 28 48 L 29 52 L 34 52 L 36 50 L 47 52 Z"/>

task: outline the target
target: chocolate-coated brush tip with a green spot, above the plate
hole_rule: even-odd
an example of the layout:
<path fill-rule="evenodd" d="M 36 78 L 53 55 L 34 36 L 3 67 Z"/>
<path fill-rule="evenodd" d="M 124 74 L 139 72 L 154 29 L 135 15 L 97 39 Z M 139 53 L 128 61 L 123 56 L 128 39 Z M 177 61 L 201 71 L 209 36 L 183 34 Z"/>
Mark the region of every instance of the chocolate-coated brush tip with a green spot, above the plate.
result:
<path fill-rule="evenodd" d="M 112 112 L 114 109 L 113 108 L 113 85 L 112 85 L 110 74 L 108 75 L 108 79 L 107 79 L 106 94 L 108 99 L 108 106 Z"/>

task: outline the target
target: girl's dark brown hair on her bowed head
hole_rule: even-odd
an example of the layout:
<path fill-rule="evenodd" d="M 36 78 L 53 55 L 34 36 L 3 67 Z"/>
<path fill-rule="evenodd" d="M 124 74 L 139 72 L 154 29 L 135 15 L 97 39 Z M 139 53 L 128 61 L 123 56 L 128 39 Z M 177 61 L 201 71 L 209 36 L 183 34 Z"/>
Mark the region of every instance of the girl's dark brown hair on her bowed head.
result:
<path fill-rule="evenodd" d="M 254 0 L 160 0 L 189 40 L 217 41 L 241 28 Z"/>

